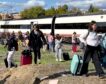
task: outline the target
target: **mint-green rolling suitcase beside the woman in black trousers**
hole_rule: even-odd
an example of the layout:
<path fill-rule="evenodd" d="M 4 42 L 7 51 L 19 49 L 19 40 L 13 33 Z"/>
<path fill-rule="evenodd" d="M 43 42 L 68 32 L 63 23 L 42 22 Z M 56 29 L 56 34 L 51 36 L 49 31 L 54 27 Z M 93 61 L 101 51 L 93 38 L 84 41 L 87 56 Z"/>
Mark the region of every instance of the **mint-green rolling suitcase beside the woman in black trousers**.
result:
<path fill-rule="evenodd" d="M 83 65 L 82 57 L 75 54 L 70 63 L 71 74 L 72 75 L 80 75 L 82 65 Z"/>

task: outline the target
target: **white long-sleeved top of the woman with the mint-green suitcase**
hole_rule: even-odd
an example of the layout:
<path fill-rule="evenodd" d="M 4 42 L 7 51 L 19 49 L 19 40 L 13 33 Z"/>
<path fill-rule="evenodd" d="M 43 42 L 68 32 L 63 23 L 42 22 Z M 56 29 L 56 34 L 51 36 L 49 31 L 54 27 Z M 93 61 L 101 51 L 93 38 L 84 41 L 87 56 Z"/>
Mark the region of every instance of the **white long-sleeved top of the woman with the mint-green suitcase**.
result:
<path fill-rule="evenodd" d="M 89 35 L 87 36 L 88 32 L 85 34 L 82 34 L 79 39 L 81 42 L 83 42 L 85 45 L 90 45 L 90 46 L 98 46 L 100 41 L 99 41 L 99 36 L 97 35 L 96 32 L 89 32 Z M 87 38 L 86 38 L 87 36 Z"/>

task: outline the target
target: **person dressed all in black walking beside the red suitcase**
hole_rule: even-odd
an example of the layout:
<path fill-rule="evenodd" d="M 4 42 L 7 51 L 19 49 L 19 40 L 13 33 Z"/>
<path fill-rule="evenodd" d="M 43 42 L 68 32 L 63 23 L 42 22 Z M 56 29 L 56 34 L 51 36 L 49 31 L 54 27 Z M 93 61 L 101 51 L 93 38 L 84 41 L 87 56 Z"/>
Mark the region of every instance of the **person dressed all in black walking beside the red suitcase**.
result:
<path fill-rule="evenodd" d="M 43 47 L 43 43 L 46 43 L 46 39 L 42 31 L 39 28 L 39 25 L 34 25 L 33 30 L 29 35 L 29 48 L 32 48 L 34 51 L 34 62 L 37 64 L 37 61 L 40 63 L 41 61 L 41 52 L 40 49 Z"/>

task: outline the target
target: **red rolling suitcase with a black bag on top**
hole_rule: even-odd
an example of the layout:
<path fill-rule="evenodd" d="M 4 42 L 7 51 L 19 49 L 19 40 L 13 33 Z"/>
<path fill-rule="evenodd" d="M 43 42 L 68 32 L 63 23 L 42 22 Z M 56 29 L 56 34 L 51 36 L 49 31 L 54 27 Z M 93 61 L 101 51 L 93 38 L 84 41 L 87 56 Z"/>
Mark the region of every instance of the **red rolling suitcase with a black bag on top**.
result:
<path fill-rule="evenodd" d="M 30 50 L 24 50 L 21 55 L 21 65 L 32 64 L 32 55 Z"/>

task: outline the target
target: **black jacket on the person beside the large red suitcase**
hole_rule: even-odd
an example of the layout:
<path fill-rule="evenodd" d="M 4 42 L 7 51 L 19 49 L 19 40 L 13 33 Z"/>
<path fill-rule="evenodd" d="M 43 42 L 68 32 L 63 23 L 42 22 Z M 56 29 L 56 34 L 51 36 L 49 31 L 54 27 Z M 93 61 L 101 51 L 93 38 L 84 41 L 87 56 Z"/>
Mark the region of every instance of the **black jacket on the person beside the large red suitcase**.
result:
<path fill-rule="evenodd" d="M 37 34 L 35 34 L 34 30 L 32 30 L 29 36 L 29 47 L 40 49 L 43 44 L 46 44 L 46 39 L 44 38 L 43 33 L 39 30 L 37 31 Z"/>

